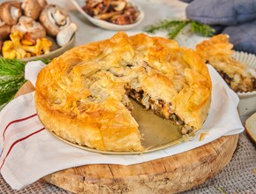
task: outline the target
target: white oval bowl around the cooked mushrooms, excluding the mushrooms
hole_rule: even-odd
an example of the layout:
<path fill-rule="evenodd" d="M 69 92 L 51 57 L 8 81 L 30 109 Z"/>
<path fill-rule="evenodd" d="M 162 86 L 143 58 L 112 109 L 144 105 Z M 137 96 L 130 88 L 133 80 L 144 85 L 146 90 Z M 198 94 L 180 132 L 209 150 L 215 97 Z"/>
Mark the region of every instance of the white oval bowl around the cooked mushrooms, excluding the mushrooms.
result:
<path fill-rule="evenodd" d="M 85 5 L 85 1 L 72 0 L 72 2 L 76 6 L 78 11 L 83 16 L 85 16 L 90 22 L 92 22 L 95 26 L 99 26 L 99 27 L 102 27 L 102 28 L 108 29 L 108 30 L 117 30 L 117 31 L 119 31 L 119 30 L 129 30 L 129 29 L 132 29 L 135 26 L 138 26 L 139 23 L 144 19 L 144 12 L 141 10 L 141 8 L 139 7 L 138 4 L 133 4 L 132 2 L 131 2 L 132 5 L 135 6 L 139 10 L 139 16 L 136 19 L 135 23 L 130 24 L 130 25 L 117 25 L 117 24 L 110 23 L 108 21 L 104 21 L 102 19 L 94 19 L 93 17 L 88 15 L 86 11 L 84 11 L 82 9 L 82 6 Z"/>

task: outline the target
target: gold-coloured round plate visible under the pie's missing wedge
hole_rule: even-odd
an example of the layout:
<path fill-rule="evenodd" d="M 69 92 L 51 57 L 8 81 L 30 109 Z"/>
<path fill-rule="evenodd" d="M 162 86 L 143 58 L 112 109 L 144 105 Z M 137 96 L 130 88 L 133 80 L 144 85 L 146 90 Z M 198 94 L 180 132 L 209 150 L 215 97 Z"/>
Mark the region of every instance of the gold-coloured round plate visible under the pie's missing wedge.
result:
<path fill-rule="evenodd" d="M 80 146 L 78 144 L 72 143 L 64 138 L 57 136 L 53 131 L 49 131 L 48 129 L 47 130 L 54 137 L 64 141 L 71 146 L 75 146 L 89 152 L 111 155 L 152 153 L 170 146 L 178 145 L 191 139 L 194 136 L 193 133 L 182 135 L 176 125 L 170 123 L 160 116 L 154 115 L 154 113 L 150 110 L 145 110 L 141 105 L 139 105 L 137 101 L 132 99 L 130 99 L 130 101 L 132 101 L 133 105 L 132 116 L 139 123 L 139 131 L 143 138 L 142 145 L 146 148 L 144 152 L 109 152 L 96 150 L 87 146 Z"/>

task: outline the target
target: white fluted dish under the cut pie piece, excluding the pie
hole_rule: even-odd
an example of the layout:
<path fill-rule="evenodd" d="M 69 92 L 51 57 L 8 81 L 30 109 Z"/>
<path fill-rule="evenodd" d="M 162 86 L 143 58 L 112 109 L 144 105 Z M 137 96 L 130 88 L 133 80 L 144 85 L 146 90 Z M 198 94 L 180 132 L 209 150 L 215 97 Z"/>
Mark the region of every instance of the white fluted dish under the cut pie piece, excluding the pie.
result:
<path fill-rule="evenodd" d="M 256 56 L 245 52 L 235 52 L 234 56 L 237 61 L 246 63 L 252 75 L 256 78 Z M 252 115 L 256 111 L 256 91 L 247 93 L 237 93 L 240 101 L 238 104 L 239 114 L 242 121 Z"/>

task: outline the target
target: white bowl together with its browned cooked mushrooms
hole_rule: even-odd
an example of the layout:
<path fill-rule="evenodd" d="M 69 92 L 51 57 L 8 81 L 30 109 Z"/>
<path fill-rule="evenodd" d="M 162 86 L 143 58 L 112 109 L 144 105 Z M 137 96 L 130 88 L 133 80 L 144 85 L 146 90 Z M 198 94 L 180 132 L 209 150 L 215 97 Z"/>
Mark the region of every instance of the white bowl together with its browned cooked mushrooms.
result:
<path fill-rule="evenodd" d="M 129 30 L 144 19 L 139 4 L 126 0 L 72 0 L 78 11 L 95 26 L 108 30 Z"/>

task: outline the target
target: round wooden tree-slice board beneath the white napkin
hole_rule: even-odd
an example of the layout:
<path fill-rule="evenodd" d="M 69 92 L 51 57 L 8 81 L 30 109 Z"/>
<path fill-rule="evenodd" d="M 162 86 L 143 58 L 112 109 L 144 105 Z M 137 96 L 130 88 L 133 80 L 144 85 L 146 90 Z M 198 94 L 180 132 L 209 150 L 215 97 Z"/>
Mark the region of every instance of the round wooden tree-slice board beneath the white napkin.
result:
<path fill-rule="evenodd" d="M 29 82 L 19 95 L 32 92 Z M 173 193 L 189 190 L 216 175 L 231 160 L 238 135 L 218 138 L 185 153 L 140 164 L 85 165 L 46 175 L 41 180 L 75 193 Z"/>

